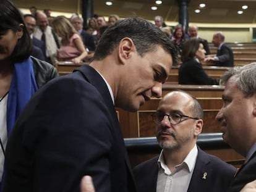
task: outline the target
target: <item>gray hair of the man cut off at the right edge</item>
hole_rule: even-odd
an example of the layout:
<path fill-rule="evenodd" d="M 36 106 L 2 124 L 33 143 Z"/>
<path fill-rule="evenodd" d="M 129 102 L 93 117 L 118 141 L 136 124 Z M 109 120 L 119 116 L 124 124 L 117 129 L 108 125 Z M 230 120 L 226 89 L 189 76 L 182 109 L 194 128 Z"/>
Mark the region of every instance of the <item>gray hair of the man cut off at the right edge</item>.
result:
<path fill-rule="evenodd" d="M 221 83 L 226 85 L 231 77 L 236 79 L 237 86 L 245 97 L 253 96 L 256 93 L 256 62 L 228 70 L 221 77 Z"/>

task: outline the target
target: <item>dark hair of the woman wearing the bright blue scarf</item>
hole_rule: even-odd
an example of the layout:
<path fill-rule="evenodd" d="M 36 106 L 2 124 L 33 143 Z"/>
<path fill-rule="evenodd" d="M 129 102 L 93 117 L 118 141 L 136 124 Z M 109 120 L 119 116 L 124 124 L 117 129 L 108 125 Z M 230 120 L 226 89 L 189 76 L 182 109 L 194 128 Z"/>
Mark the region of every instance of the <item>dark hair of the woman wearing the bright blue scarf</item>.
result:
<path fill-rule="evenodd" d="M 23 24 L 23 35 L 18 40 L 14 51 L 11 54 L 12 62 L 22 62 L 32 53 L 32 41 L 23 22 L 23 16 L 19 9 L 9 0 L 2 0 L 0 4 L 0 31 L 19 30 L 19 25 Z"/>

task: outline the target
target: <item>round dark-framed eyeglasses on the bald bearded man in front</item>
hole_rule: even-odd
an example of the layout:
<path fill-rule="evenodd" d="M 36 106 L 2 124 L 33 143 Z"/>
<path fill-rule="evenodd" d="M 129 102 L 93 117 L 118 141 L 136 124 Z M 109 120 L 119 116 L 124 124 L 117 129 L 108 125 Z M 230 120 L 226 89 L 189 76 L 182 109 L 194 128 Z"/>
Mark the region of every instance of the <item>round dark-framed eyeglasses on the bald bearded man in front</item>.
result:
<path fill-rule="evenodd" d="M 177 112 L 173 113 L 173 114 L 161 114 L 160 112 L 154 112 L 153 114 L 151 114 L 152 117 L 153 117 L 153 122 L 156 123 L 156 124 L 160 124 L 162 122 L 162 120 L 164 119 L 164 116 L 167 116 L 168 119 L 169 119 L 169 122 L 172 124 L 172 125 L 177 125 L 179 123 L 181 123 L 182 121 L 184 120 L 187 120 L 187 119 L 196 119 L 198 120 L 198 118 L 196 117 L 189 117 L 187 115 L 182 115 L 182 114 L 179 114 Z M 186 117 L 187 119 L 183 119 Z"/>

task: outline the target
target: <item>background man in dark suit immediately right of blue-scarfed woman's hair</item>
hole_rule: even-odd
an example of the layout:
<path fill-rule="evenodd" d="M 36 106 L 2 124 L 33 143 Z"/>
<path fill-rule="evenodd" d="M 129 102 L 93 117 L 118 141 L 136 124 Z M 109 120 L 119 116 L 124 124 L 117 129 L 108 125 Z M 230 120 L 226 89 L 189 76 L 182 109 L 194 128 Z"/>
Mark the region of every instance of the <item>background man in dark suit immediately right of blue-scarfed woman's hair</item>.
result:
<path fill-rule="evenodd" d="M 46 58 L 45 42 L 43 42 L 43 41 L 39 40 L 38 38 L 35 38 L 35 36 L 33 36 L 35 27 L 36 27 L 35 17 L 33 17 L 33 15 L 27 14 L 27 15 L 23 15 L 23 19 L 24 19 L 26 28 L 28 30 L 28 33 L 30 34 L 30 37 L 31 37 L 32 43 L 33 43 L 32 56 L 45 61 L 45 58 Z"/>

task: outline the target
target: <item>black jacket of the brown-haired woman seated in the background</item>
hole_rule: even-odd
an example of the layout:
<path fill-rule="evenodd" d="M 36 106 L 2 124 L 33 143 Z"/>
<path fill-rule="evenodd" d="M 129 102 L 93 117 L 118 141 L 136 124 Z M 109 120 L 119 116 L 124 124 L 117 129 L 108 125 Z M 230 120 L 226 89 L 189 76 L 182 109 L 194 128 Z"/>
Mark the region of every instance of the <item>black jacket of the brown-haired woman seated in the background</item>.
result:
<path fill-rule="evenodd" d="M 219 80 L 211 78 L 203 70 L 202 64 L 194 59 L 183 62 L 179 67 L 181 85 L 219 85 Z"/>

